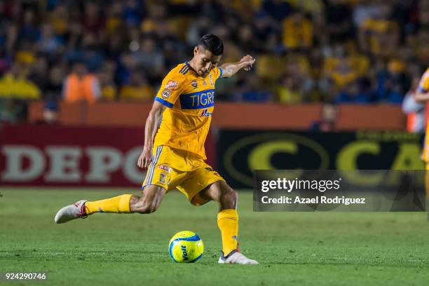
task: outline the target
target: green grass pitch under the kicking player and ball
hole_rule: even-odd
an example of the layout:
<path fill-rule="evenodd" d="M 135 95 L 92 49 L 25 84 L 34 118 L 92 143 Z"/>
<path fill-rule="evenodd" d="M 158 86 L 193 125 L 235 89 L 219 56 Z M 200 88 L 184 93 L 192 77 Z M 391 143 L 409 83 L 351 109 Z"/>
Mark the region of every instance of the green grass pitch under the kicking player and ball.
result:
<path fill-rule="evenodd" d="M 48 275 L 18 285 L 429 285 L 425 213 L 252 212 L 252 193 L 240 191 L 240 247 L 261 265 L 219 265 L 214 203 L 194 207 L 173 191 L 154 214 L 94 214 L 55 225 L 63 205 L 130 191 L 0 193 L 0 272 Z M 196 264 L 169 257 L 168 241 L 182 230 L 205 243 Z"/>

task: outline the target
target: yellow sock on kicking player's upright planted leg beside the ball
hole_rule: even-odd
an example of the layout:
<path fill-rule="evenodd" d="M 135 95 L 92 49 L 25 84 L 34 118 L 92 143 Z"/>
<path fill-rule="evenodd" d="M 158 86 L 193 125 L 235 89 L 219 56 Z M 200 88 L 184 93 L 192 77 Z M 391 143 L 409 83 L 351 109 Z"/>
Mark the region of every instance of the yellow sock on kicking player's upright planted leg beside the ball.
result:
<path fill-rule="evenodd" d="M 238 247 L 238 213 L 237 210 L 221 210 L 217 214 L 217 225 L 222 233 L 222 251 L 228 255 Z"/>

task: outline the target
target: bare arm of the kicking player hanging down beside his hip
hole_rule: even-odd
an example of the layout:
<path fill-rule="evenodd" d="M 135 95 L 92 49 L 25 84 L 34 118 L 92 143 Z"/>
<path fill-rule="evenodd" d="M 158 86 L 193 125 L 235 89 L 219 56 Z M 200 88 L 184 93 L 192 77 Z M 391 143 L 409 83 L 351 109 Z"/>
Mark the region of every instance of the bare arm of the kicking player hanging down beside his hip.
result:
<path fill-rule="evenodd" d="M 161 102 L 154 102 L 149 116 L 147 116 L 146 126 L 144 128 L 144 147 L 142 154 L 137 160 L 139 168 L 146 169 L 152 161 L 152 148 L 154 147 L 154 139 L 158 130 L 158 122 L 163 115 L 165 105 Z"/>

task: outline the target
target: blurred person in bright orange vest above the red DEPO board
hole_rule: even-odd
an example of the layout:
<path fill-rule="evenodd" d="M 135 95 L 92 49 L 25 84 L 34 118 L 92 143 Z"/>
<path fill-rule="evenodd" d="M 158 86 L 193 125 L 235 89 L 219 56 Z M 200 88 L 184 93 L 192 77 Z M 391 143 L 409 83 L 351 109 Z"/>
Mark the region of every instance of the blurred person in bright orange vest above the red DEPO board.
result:
<path fill-rule="evenodd" d="M 71 74 L 64 80 L 62 96 L 65 102 L 93 103 L 100 98 L 100 83 L 88 73 L 83 62 L 75 62 Z"/>

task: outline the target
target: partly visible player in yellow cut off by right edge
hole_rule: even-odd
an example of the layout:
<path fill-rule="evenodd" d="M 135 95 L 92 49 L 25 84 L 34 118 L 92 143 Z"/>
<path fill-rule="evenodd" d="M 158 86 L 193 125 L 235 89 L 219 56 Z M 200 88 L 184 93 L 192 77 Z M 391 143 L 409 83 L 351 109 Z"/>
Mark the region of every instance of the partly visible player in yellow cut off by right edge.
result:
<path fill-rule="evenodd" d="M 429 100 L 429 68 L 426 69 L 425 73 L 421 77 L 420 83 L 414 95 L 414 98 L 418 102 L 426 102 L 426 112 L 428 112 L 428 100 Z M 429 119 L 429 117 L 428 117 Z M 426 123 L 426 135 L 425 142 L 423 145 L 423 161 L 426 163 L 426 210 L 429 212 L 429 120 Z M 429 220 L 429 214 L 428 214 Z"/>

